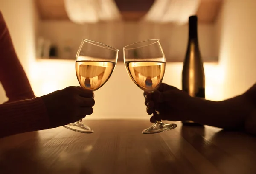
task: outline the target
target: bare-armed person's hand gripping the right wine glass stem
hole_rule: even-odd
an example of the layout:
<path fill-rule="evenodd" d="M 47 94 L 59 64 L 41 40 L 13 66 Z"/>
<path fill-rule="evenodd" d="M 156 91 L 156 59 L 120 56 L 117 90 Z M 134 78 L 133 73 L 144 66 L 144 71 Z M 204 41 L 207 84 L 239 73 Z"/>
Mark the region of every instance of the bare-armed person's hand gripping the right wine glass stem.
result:
<path fill-rule="evenodd" d="M 160 87 L 154 93 L 144 92 L 145 105 L 147 106 L 148 115 L 159 111 L 162 120 L 182 121 L 188 120 L 192 114 L 194 99 L 185 91 L 167 84 L 160 84 Z M 154 117 L 150 118 L 154 123 Z"/>

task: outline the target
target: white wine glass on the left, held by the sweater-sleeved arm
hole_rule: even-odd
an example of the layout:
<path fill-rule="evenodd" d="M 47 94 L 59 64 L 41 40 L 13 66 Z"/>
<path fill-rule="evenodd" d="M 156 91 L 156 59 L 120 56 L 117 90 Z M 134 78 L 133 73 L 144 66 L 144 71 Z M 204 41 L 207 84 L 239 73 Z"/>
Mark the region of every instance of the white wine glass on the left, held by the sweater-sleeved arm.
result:
<path fill-rule="evenodd" d="M 80 86 L 92 91 L 102 87 L 116 67 L 118 51 L 108 45 L 83 39 L 76 53 L 76 77 Z M 64 127 L 76 132 L 93 133 L 93 129 L 84 125 L 82 119 Z"/>

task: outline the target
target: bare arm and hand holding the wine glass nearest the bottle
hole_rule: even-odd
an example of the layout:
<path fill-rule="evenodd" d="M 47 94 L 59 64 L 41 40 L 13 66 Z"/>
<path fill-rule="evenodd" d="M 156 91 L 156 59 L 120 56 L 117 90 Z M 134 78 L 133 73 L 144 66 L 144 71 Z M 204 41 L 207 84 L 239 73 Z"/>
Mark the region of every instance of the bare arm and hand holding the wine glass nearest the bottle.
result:
<path fill-rule="evenodd" d="M 192 120 L 224 129 L 244 129 L 256 134 L 256 84 L 244 94 L 224 101 L 190 97 L 186 92 L 167 84 L 161 84 L 159 90 L 153 94 L 144 93 L 150 115 L 154 106 L 157 106 L 163 120 Z"/>

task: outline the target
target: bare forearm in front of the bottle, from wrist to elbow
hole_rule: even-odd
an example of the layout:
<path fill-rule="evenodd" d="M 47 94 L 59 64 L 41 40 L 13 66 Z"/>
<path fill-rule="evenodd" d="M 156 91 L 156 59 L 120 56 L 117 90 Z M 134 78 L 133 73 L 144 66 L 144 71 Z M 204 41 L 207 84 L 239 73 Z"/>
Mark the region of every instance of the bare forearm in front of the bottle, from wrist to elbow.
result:
<path fill-rule="evenodd" d="M 246 118 L 253 112 L 244 95 L 217 102 L 198 98 L 196 102 L 191 120 L 224 129 L 244 129 Z"/>

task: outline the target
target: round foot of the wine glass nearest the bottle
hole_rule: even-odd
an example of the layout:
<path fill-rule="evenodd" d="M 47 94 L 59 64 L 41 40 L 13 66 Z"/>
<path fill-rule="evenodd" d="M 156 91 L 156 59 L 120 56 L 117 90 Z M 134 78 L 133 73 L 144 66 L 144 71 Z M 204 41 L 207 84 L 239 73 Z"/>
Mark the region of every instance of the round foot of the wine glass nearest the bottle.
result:
<path fill-rule="evenodd" d="M 142 131 L 143 134 L 156 134 L 160 132 L 166 132 L 177 127 L 177 124 L 166 124 L 166 123 L 154 123 L 147 129 Z"/>

